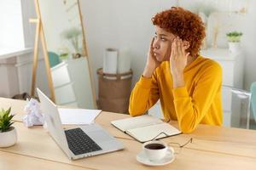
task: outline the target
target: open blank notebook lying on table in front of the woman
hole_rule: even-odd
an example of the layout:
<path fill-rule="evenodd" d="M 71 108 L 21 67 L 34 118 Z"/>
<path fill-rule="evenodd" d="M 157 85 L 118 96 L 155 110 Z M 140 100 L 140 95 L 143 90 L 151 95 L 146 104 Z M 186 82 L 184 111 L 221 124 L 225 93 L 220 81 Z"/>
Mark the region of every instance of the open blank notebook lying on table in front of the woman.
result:
<path fill-rule="evenodd" d="M 147 142 L 154 139 L 165 138 L 180 134 L 177 128 L 172 127 L 169 123 L 161 121 L 159 118 L 149 115 L 135 116 L 111 122 L 114 127 L 119 128 L 131 135 L 132 138 L 140 142 Z"/>

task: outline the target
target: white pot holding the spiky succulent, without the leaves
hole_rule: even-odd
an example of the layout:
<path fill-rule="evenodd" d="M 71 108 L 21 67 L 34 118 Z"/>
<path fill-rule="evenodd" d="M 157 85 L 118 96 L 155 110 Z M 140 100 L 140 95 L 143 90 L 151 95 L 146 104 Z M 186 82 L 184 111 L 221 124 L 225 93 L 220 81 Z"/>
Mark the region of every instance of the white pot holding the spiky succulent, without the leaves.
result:
<path fill-rule="evenodd" d="M 17 142 L 17 132 L 15 127 L 11 127 L 8 132 L 0 132 L 0 147 L 9 147 L 16 144 Z"/>

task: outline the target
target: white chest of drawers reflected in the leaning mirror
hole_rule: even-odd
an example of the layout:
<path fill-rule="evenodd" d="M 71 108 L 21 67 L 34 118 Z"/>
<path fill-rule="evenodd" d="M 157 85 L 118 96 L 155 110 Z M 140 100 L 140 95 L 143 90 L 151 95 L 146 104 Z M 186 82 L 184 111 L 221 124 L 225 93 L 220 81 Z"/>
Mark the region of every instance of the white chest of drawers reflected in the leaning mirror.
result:
<path fill-rule="evenodd" d="M 56 105 L 93 109 L 88 62 L 85 57 L 67 59 L 51 68 Z"/>

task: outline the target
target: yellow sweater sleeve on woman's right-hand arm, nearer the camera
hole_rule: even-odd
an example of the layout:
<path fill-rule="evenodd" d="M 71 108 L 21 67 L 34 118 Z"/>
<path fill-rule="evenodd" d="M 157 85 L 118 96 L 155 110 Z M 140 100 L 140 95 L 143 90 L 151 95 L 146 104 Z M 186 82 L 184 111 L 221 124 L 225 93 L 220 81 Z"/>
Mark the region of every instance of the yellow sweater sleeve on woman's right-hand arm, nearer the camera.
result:
<path fill-rule="evenodd" d="M 183 133 L 191 133 L 209 111 L 213 99 L 220 93 L 222 69 L 209 66 L 195 84 L 194 93 L 189 96 L 186 87 L 172 90 L 177 122 Z"/>

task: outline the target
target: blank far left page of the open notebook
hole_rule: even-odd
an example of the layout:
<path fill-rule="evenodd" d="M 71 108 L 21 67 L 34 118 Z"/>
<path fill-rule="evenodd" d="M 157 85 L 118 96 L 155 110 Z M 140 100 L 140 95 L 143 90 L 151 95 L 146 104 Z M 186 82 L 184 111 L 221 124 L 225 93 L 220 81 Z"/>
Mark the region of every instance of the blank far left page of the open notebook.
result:
<path fill-rule="evenodd" d="M 148 125 L 154 125 L 161 123 L 162 121 L 159 118 L 149 115 L 135 116 L 131 118 L 121 119 L 111 122 L 113 126 L 118 127 L 121 131 L 125 132 L 128 129 L 136 127 L 145 127 Z"/>

